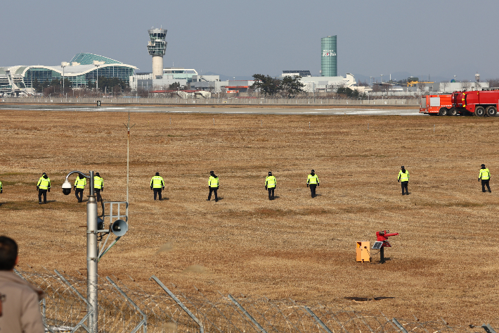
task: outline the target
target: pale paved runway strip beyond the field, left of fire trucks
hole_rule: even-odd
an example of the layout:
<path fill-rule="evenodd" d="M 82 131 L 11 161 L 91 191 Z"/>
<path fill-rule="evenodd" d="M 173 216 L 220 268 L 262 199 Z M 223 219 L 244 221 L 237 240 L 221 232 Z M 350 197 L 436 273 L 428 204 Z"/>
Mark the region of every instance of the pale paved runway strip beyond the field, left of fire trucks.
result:
<path fill-rule="evenodd" d="M 171 106 L 65 106 L 65 105 L 17 105 L 1 104 L 0 110 L 32 111 L 86 111 L 86 112 L 164 112 L 164 113 L 207 113 L 240 115 L 420 115 L 418 108 L 207 108 Z"/>

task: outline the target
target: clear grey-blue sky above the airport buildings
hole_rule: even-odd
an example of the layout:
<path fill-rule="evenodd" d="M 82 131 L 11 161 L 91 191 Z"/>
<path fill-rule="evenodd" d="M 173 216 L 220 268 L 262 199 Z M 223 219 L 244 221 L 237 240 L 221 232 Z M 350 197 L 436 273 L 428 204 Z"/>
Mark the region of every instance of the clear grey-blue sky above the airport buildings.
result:
<path fill-rule="evenodd" d="M 164 67 L 202 73 L 318 75 L 320 38 L 336 34 L 339 75 L 499 77 L 497 0 L 25 0 L 4 1 L 1 12 L 0 66 L 89 52 L 150 72 L 147 30 L 162 26 Z"/>

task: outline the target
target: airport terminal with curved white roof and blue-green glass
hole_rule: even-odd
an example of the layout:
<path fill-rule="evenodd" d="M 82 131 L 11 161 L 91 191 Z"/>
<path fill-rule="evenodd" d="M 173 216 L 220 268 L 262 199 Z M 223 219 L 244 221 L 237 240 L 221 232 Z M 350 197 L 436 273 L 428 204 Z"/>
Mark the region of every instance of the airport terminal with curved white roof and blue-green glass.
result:
<path fill-rule="evenodd" d="M 94 61 L 100 62 L 95 65 Z M 73 87 L 86 87 L 99 77 L 117 77 L 129 83 L 129 78 L 138 69 L 97 54 L 77 54 L 69 63 L 58 66 L 30 65 L 0 68 L 0 94 L 19 95 L 33 87 L 34 80 L 40 83 L 52 80 L 70 80 Z"/>

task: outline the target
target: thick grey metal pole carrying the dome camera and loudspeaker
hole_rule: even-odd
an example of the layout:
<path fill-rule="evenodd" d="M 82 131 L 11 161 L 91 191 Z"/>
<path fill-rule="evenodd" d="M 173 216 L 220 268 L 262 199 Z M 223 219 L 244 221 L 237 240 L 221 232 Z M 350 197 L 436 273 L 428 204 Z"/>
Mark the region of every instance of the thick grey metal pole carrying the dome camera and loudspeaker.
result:
<path fill-rule="evenodd" d="M 89 328 L 98 332 L 98 243 L 97 243 L 97 201 L 93 190 L 93 171 L 90 175 L 90 195 L 86 203 L 86 298 L 89 301 Z"/>

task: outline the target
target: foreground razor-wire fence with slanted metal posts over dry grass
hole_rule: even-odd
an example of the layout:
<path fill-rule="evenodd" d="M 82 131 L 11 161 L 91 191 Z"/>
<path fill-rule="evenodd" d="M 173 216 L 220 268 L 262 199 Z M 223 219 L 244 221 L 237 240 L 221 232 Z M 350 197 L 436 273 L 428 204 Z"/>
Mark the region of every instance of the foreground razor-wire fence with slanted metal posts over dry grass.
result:
<path fill-rule="evenodd" d="M 87 325 L 84 275 L 69 276 L 55 270 L 43 272 L 28 267 L 15 271 L 20 277 L 46 291 L 42 301 L 49 332 L 91 332 Z M 154 294 L 146 292 L 132 277 L 99 277 L 99 332 L 371 332 L 435 333 L 484 332 L 480 327 L 451 327 L 443 318 L 421 322 L 387 318 L 383 313 L 363 313 L 353 308 L 304 305 L 290 299 L 271 301 L 245 295 L 206 296 L 196 287 L 186 295 L 175 285 L 157 284 Z M 495 333 L 491 326 L 487 333 Z"/>

